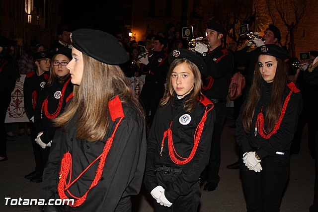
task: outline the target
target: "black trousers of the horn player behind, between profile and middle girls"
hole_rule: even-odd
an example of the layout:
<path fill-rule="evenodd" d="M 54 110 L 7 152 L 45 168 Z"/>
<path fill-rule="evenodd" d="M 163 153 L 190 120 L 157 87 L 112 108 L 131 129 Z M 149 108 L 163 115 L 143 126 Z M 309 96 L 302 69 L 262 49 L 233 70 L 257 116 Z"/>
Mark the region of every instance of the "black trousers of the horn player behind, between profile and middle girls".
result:
<path fill-rule="evenodd" d="M 140 101 L 146 112 L 146 117 L 148 117 L 147 124 L 149 124 L 149 126 L 151 126 L 154 120 L 154 116 L 163 94 L 164 84 L 162 83 L 146 82 L 141 90 Z M 149 112 L 151 112 L 150 116 Z"/>

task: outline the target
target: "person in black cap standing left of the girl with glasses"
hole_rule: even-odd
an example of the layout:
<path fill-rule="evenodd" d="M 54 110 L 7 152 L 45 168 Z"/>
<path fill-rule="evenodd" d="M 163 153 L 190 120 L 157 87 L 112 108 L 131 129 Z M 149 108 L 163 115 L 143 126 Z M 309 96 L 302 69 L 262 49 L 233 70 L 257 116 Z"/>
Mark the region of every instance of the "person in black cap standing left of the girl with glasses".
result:
<path fill-rule="evenodd" d="M 36 143 L 37 133 L 34 126 L 35 108 L 42 104 L 41 97 L 45 84 L 50 77 L 50 66 L 52 56 L 48 52 L 37 52 L 33 54 L 36 71 L 31 71 L 26 74 L 23 84 L 24 93 L 24 108 L 27 117 L 30 120 L 31 143 L 35 159 L 35 170 L 25 175 L 26 179 L 32 182 L 42 182 L 42 174 L 44 162 L 42 149 Z"/>

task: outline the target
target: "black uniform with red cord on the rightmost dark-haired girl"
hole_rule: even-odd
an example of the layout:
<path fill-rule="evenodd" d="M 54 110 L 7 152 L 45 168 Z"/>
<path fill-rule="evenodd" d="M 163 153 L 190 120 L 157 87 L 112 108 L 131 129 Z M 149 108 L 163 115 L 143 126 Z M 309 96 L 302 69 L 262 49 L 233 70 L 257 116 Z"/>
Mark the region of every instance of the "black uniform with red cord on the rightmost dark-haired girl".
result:
<path fill-rule="evenodd" d="M 249 133 L 244 131 L 241 120 L 242 110 L 247 100 L 241 107 L 241 113 L 236 122 L 236 140 L 241 154 L 255 151 L 260 157 L 263 168 L 259 173 L 250 171 L 243 161 L 240 162 L 247 211 L 279 211 L 290 172 L 290 147 L 303 106 L 300 90 L 293 82 L 290 82 L 282 97 L 283 104 L 286 102 L 286 108 L 284 109 L 283 106 L 277 125 L 267 134 L 266 126 L 262 126 L 261 117 L 266 114 L 271 99 L 271 89 L 272 83 L 266 83 L 263 80 L 260 87 L 260 100 L 255 107 Z"/>

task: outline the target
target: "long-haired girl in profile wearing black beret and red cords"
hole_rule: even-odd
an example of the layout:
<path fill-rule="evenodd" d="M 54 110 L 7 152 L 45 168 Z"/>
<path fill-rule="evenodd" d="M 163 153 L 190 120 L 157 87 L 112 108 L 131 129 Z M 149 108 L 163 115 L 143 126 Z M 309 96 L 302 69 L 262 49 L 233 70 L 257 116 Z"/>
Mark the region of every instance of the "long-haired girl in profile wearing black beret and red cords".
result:
<path fill-rule="evenodd" d="M 54 120 L 62 130 L 53 138 L 41 198 L 74 202 L 44 211 L 131 211 L 130 196 L 142 183 L 146 137 L 142 107 L 118 66 L 128 56 L 100 30 L 78 29 L 71 39 L 67 68 L 74 97 Z"/>

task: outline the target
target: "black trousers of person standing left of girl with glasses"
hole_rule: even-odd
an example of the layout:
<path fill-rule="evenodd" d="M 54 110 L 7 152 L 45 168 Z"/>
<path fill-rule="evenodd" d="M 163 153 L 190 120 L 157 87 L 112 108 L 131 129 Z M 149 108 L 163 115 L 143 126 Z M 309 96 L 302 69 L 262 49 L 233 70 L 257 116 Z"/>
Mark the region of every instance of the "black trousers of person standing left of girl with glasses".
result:
<path fill-rule="evenodd" d="M 33 154 L 35 159 L 35 170 L 38 172 L 43 172 L 44 164 L 43 164 L 43 156 L 42 156 L 42 147 L 39 144 L 37 144 L 35 141 L 37 134 L 34 129 L 34 123 L 30 122 L 29 127 L 31 131 L 31 143 L 32 143 Z"/>

